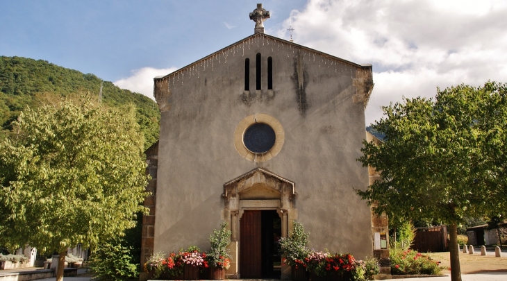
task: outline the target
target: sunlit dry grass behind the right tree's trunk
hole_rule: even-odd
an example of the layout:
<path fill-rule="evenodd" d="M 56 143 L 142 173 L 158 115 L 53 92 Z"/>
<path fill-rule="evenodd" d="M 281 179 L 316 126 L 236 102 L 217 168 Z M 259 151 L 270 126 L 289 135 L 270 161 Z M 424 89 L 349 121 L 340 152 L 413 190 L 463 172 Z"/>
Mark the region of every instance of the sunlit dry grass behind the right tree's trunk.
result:
<path fill-rule="evenodd" d="M 449 261 L 449 252 L 428 253 L 435 261 L 441 262 L 440 266 L 444 268 L 442 274 L 450 274 L 451 262 Z M 505 253 L 504 253 L 505 255 Z M 461 274 L 472 274 L 481 272 L 506 271 L 507 257 L 494 257 L 494 255 L 481 255 L 481 252 L 473 255 L 460 252 Z"/>

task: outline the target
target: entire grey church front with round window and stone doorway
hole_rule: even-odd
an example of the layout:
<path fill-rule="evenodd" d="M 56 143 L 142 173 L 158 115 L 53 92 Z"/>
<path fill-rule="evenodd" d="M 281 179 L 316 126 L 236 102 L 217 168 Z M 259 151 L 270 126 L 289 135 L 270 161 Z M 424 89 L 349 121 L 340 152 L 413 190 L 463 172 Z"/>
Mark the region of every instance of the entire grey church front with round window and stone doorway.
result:
<path fill-rule="evenodd" d="M 223 221 L 231 278 L 276 275 L 274 241 L 293 221 L 310 232 L 310 248 L 374 254 L 378 230 L 354 192 L 369 185 L 356 159 L 372 66 L 262 29 L 154 79 L 160 139 L 147 153 L 142 262 L 190 245 L 207 250 Z M 281 278 L 290 269 L 281 266 Z"/>

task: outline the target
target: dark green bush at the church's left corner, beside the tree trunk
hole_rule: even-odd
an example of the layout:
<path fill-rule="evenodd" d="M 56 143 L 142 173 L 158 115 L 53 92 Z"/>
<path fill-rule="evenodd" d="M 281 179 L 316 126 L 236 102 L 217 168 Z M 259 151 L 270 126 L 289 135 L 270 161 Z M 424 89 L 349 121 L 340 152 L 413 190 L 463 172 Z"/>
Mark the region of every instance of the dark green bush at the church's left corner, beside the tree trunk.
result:
<path fill-rule="evenodd" d="M 99 245 L 88 259 L 94 278 L 120 281 L 139 278 L 139 264 L 132 257 L 132 250 L 133 247 L 122 246 L 119 241 Z"/>

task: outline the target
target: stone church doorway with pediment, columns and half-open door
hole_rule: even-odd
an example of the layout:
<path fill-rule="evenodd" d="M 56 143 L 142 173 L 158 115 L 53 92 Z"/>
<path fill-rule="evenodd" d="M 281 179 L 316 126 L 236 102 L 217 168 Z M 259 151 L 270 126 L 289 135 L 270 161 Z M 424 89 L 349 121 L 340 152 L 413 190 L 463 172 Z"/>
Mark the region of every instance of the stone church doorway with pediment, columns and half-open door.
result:
<path fill-rule="evenodd" d="M 258 168 L 226 182 L 224 189 L 224 214 L 232 232 L 229 249 L 235 257 L 228 276 L 290 278 L 274 242 L 287 237 L 297 219 L 294 182 Z"/>

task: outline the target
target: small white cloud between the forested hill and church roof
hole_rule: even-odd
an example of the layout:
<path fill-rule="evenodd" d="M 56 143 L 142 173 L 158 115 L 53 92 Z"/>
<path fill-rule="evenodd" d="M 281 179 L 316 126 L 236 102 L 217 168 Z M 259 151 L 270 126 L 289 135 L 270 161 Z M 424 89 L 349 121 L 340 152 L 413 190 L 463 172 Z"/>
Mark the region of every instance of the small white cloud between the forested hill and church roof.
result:
<path fill-rule="evenodd" d="M 175 71 L 176 67 L 156 69 L 153 67 L 143 67 L 142 69 L 135 69 L 132 71 L 132 76 L 122 78 L 113 82 L 122 89 L 131 90 L 132 92 L 138 92 L 148 96 L 150 99 L 153 98 L 153 78 L 156 76 L 165 76 Z"/>

